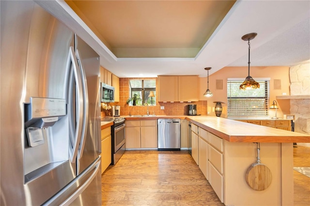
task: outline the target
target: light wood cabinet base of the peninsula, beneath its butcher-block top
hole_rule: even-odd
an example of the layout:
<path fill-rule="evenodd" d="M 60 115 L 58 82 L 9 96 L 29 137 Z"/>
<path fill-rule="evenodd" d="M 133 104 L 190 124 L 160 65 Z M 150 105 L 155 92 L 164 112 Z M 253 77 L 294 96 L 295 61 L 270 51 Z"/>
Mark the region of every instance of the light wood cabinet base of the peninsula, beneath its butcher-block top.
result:
<path fill-rule="evenodd" d="M 245 174 L 257 160 L 256 144 L 229 142 L 193 123 L 191 128 L 192 157 L 221 202 L 293 205 L 293 174 L 288 172 L 293 168 L 293 143 L 260 143 L 261 161 L 271 170 L 273 179 L 265 191 L 255 191 L 248 186 Z"/>

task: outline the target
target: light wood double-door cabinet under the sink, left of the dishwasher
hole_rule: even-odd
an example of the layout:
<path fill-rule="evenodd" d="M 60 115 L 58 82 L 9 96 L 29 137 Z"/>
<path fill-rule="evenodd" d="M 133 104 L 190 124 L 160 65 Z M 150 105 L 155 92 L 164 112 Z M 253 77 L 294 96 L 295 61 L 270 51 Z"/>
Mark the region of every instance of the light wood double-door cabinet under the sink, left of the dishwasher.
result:
<path fill-rule="evenodd" d="M 126 120 L 126 148 L 157 148 L 156 120 Z"/>

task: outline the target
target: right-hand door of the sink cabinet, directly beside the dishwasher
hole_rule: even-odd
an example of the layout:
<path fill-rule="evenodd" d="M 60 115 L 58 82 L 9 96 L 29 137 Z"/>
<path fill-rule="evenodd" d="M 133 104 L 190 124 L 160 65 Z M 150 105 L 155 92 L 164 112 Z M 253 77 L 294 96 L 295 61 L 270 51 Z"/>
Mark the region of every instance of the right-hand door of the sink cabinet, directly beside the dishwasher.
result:
<path fill-rule="evenodd" d="M 141 127 L 141 148 L 157 148 L 156 127 Z"/>

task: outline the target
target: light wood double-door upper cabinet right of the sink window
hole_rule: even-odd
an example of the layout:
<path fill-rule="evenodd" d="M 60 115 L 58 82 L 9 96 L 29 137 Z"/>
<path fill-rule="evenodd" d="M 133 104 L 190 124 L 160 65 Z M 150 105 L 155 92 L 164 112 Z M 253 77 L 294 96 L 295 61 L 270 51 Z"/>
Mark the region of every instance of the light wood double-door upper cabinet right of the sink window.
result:
<path fill-rule="evenodd" d="M 158 102 L 197 102 L 198 76 L 158 76 Z"/>

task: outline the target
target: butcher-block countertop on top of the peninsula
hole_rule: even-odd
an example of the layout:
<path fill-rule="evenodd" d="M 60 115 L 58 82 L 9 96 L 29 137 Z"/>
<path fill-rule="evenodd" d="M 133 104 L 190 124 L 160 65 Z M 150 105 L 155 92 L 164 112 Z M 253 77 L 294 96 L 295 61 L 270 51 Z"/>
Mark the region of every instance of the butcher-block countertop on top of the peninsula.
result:
<path fill-rule="evenodd" d="M 310 136 L 215 116 L 187 116 L 187 120 L 229 142 L 310 143 Z"/>

